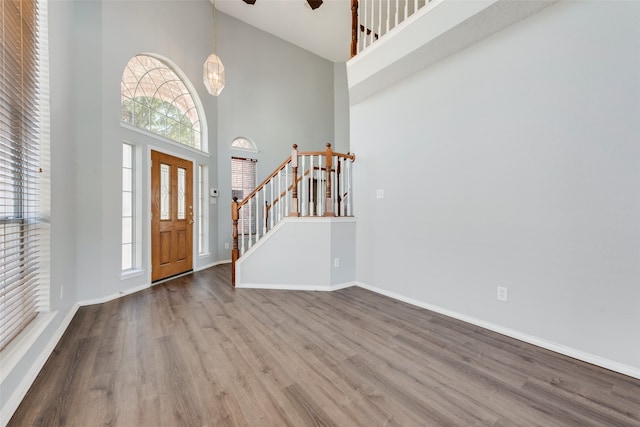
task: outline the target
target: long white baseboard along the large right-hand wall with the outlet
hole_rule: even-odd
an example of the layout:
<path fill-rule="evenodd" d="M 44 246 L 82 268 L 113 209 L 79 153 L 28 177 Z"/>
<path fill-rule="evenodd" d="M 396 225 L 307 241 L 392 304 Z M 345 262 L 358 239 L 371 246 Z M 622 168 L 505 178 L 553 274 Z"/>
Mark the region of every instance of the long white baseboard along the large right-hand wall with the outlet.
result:
<path fill-rule="evenodd" d="M 533 335 L 528 335 L 528 334 L 516 331 L 514 329 L 509 329 L 509 328 L 505 328 L 503 326 L 496 325 L 490 322 L 485 322 L 484 320 L 476 319 L 474 317 L 466 316 L 464 314 L 460 314 L 455 311 L 447 310 L 442 307 L 428 304 L 424 301 L 420 301 L 415 298 L 410 298 L 395 292 L 388 291 L 386 289 L 377 288 L 375 286 L 370 286 L 360 282 L 355 283 L 355 285 L 364 289 L 368 289 L 377 294 L 396 299 L 398 301 L 406 302 L 408 304 L 415 305 L 417 307 L 424 308 L 427 310 L 431 310 L 436 313 L 440 313 L 445 316 L 452 317 L 454 319 L 462 320 L 463 322 L 471 323 L 472 325 L 480 326 L 481 328 L 489 329 L 493 332 L 497 332 L 499 334 L 502 334 L 511 338 L 515 338 L 519 341 L 524 341 L 526 343 L 533 344 L 535 346 L 542 347 L 547 350 L 551 350 L 553 352 L 560 353 L 565 356 L 569 356 L 574 359 L 578 359 L 583 362 L 590 363 L 592 365 L 600 366 L 602 368 L 609 369 L 611 371 L 619 372 L 621 374 L 640 379 L 640 369 L 635 368 L 633 366 L 629 366 L 613 360 L 605 359 L 603 357 L 586 353 L 584 351 L 577 350 L 575 348 L 567 347 L 562 344 L 547 341 Z"/>

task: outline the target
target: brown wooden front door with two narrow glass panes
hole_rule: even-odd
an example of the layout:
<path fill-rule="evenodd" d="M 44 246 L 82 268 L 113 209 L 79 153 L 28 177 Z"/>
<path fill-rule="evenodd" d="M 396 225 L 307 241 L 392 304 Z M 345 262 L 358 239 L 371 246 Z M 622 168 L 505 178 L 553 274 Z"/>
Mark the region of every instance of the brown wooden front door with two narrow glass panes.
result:
<path fill-rule="evenodd" d="M 193 164 L 151 151 L 151 281 L 193 268 Z"/>

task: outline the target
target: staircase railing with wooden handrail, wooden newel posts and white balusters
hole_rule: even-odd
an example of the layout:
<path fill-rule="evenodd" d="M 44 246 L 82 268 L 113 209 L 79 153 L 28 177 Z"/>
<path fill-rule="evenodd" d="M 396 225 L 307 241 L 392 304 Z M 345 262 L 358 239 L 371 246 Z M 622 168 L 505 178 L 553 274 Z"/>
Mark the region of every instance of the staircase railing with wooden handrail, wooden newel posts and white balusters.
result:
<path fill-rule="evenodd" d="M 285 217 L 350 217 L 352 166 L 355 155 L 298 151 L 293 145 L 285 159 L 255 190 L 231 203 L 233 249 L 231 281 L 236 261 Z"/>

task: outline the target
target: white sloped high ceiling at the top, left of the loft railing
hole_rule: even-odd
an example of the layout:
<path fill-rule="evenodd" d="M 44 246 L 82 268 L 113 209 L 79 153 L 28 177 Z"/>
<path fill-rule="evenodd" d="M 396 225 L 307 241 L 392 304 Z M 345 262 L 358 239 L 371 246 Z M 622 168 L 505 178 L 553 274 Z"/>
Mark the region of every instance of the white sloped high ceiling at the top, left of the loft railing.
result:
<path fill-rule="evenodd" d="M 350 0 L 324 0 L 312 10 L 306 0 L 215 0 L 216 9 L 333 62 L 349 59 Z"/>

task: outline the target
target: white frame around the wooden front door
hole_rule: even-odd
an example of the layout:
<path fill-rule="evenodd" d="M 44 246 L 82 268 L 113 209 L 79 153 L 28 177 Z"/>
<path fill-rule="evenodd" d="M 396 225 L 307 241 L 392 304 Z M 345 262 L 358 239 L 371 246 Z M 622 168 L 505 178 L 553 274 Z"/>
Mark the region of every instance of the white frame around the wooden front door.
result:
<path fill-rule="evenodd" d="M 198 189 L 198 180 L 196 179 L 196 174 L 198 171 L 198 162 L 195 158 L 193 157 L 188 157 L 185 156 L 184 153 L 178 153 L 175 151 L 170 151 L 167 150 L 165 148 L 161 148 L 158 146 L 154 146 L 154 145 L 147 145 L 147 167 L 146 167 L 146 179 L 147 179 L 147 183 L 146 183 L 146 197 L 145 200 L 143 201 L 143 203 L 145 204 L 145 212 L 146 212 L 146 221 L 145 221 L 145 231 L 147 232 L 147 238 L 146 240 L 146 252 L 148 253 L 148 259 L 147 259 L 147 283 L 153 285 L 154 282 L 152 281 L 152 275 L 151 275 L 151 269 L 153 268 L 153 246 L 152 246 L 152 231 L 151 231 L 151 203 L 153 202 L 152 200 L 152 191 L 151 191 L 151 165 L 152 165 L 152 160 L 151 160 L 151 152 L 152 151 L 157 151 L 158 153 L 162 153 L 162 154 L 167 154 L 169 156 L 173 156 L 173 157 L 177 157 L 179 159 L 182 159 L 184 161 L 190 162 L 191 166 L 193 168 L 193 182 L 192 182 L 192 194 L 193 194 L 193 207 L 194 207 L 194 211 L 197 212 L 197 208 L 198 208 L 198 197 L 197 197 L 197 189 Z M 192 239 L 191 239 L 191 251 L 192 251 L 192 257 L 191 257 L 191 270 L 192 271 L 196 271 L 195 268 L 195 264 L 196 264 L 196 258 L 198 255 L 198 240 L 197 240 L 197 230 L 196 230 L 196 224 L 198 223 L 197 220 L 194 220 L 194 227 L 192 227 L 191 229 L 191 234 L 192 234 Z M 165 279 L 160 279 L 158 281 L 156 281 L 156 283 L 158 282 L 162 282 Z"/>

